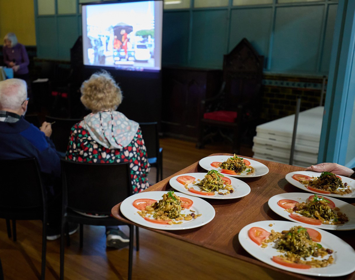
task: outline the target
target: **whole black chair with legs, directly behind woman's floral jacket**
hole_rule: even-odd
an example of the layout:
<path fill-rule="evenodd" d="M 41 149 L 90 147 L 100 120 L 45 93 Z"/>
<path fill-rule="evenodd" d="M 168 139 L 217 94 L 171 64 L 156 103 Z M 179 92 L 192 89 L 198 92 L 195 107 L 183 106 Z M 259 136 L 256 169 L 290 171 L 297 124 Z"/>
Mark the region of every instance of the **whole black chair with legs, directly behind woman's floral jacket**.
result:
<path fill-rule="evenodd" d="M 80 224 L 80 248 L 83 246 L 83 224 L 97 226 L 126 225 L 113 218 L 111 209 L 133 194 L 129 163 L 77 163 L 62 159 L 63 219 L 60 241 L 60 279 L 64 279 L 64 232 L 67 222 Z M 107 218 L 78 214 L 100 213 Z M 133 225 L 130 227 L 128 279 L 132 278 Z M 67 232 L 67 230 L 66 230 Z M 69 235 L 67 234 L 69 244 Z M 139 250 L 138 227 L 136 250 Z"/>

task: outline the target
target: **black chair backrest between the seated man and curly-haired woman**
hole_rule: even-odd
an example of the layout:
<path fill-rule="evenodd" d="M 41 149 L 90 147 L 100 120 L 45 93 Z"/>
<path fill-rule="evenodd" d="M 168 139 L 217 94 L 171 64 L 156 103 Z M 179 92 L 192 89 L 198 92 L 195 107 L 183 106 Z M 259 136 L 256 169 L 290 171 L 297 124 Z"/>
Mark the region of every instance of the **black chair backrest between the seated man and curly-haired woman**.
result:
<path fill-rule="evenodd" d="M 47 122 L 54 122 L 52 125 L 51 139 L 55 148 L 59 152 L 66 152 L 69 142 L 70 130 L 75 123 L 80 122 L 82 119 L 62 119 L 57 117 L 46 116 Z"/>

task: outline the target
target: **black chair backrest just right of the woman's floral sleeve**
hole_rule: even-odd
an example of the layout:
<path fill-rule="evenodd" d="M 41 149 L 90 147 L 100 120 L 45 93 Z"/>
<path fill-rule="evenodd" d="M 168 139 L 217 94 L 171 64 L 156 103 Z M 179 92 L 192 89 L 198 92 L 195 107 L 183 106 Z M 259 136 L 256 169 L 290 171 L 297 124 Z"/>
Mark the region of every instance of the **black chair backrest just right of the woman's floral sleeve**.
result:
<path fill-rule="evenodd" d="M 157 122 L 140 122 L 144 144 L 147 148 L 148 158 L 158 158 L 159 155 L 159 136 Z"/>

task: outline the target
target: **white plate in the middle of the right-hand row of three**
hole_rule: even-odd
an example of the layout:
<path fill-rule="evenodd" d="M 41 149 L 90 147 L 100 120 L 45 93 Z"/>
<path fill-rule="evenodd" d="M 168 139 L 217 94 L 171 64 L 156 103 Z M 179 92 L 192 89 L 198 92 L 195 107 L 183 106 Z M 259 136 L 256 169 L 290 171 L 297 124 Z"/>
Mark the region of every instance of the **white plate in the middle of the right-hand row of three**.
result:
<path fill-rule="evenodd" d="M 273 196 L 272 198 L 269 199 L 269 207 L 271 210 L 273 210 L 276 214 L 282 216 L 285 219 L 288 219 L 290 221 L 293 221 L 295 223 L 300 223 L 304 225 L 310 225 L 306 223 L 302 223 L 299 221 L 296 221 L 290 217 L 290 213 L 286 211 L 286 209 L 280 207 L 277 202 L 281 199 L 291 199 L 295 200 L 299 203 L 301 202 L 306 202 L 308 201 L 307 198 L 310 197 L 312 194 L 308 193 L 300 193 L 300 192 L 290 192 L 290 193 L 281 193 L 277 194 L 276 196 Z M 320 194 L 319 194 L 320 196 Z M 330 199 L 329 197 L 324 196 L 326 199 Z M 318 227 L 319 229 L 324 229 L 324 230 L 354 230 L 355 229 L 355 206 L 351 205 L 347 202 L 344 202 L 342 200 L 332 198 L 331 201 L 334 202 L 335 206 L 340 209 L 341 212 L 345 213 L 346 216 L 349 218 L 349 221 L 346 222 L 345 224 L 342 225 L 312 225 L 314 227 Z M 300 215 L 295 213 L 296 215 Z M 301 215 L 300 215 L 301 216 Z"/>

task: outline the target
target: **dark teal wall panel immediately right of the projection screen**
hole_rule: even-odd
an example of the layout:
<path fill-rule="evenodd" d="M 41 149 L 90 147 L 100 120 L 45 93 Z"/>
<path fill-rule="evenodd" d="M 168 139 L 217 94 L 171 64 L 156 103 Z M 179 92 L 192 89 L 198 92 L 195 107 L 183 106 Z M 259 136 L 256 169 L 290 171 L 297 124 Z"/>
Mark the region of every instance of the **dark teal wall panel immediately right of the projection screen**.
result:
<path fill-rule="evenodd" d="M 164 65 L 187 66 L 190 13 L 170 12 L 163 17 L 162 61 Z"/>

